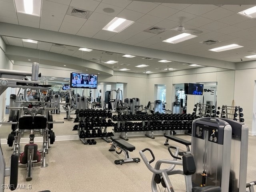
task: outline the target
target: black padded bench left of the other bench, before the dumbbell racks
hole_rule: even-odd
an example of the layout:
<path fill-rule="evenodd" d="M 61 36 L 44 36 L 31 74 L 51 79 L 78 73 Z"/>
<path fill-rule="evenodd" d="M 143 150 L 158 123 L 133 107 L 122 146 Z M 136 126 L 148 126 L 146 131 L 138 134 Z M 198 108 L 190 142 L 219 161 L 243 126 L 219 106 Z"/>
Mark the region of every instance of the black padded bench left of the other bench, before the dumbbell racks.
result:
<path fill-rule="evenodd" d="M 110 139 L 112 140 L 112 144 L 110 146 L 109 151 L 115 151 L 115 148 L 118 147 L 120 148 L 120 152 L 117 152 L 117 154 L 121 154 L 121 152 L 124 152 L 125 155 L 125 159 L 119 159 L 119 160 L 115 160 L 115 164 L 123 164 L 123 163 L 129 163 L 129 162 L 140 162 L 140 158 L 130 158 L 130 154 L 129 151 L 132 152 L 133 150 L 135 150 L 135 146 L 133 146 L 132 144 L 126 142 L 125 140 L 122 140 L 119 137 L 115 137 L 115 136 L 111 136 Z"/>

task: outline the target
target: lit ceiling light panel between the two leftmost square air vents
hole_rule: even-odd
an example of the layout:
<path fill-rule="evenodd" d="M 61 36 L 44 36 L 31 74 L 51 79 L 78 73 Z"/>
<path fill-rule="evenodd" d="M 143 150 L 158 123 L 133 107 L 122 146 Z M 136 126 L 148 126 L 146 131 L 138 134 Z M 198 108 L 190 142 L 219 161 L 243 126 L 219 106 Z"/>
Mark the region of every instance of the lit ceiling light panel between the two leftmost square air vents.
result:
<path fill-rule="evenodd" d="M 115 17 L 112 21 L 110 21 L 103 30 L 108 30 L 112 32 L 119 33 L 124 30 L 126 27 L 130 26 L 134 21 L 126 20 L 123 18 Z"/>

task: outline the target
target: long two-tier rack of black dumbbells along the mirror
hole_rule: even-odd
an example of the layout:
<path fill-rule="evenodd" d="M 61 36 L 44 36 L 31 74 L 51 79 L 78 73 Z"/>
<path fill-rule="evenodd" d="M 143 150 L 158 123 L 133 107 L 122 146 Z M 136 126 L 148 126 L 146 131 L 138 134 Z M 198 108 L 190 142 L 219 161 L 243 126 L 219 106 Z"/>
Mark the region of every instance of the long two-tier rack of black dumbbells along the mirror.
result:
<path fill-rule="evenodd" d="M 153 131 L 191 130 L 192 120 L 198 118 L 191 114 L 152 114 L 152 115 L 113 115 L 112 120 L 117 121 L 114 132 L 120 132 L 120 138 L 128 140 L 127 132 L 146 131 L 145 136 L 154 139 Z M 130 126 L 129 126 L 130 125 Z"/>

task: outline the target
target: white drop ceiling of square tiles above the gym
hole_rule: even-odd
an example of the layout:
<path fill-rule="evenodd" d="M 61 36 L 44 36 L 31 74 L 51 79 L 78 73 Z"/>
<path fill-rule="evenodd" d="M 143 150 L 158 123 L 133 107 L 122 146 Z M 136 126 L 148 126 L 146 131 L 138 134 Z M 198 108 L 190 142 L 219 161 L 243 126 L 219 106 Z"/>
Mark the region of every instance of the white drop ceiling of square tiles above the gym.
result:
<path fill-rule="evenodd" d="M 71 16 L 67 13 L 70 6 L 88 10 L 91 15 L 88 18 Z M 130 0 L 43 0 L 39 18 L 16 13 L 13 0 L 0 0 L 0 22 L 117 42 L 123 46 L 128 44 L 228 62 L 240 62 L 241 58 L 243 61 L 253 60 L 244 56 L 256 54 L 256 19 L 238 14 L 252 6 L 255 5 L 216 5 L 214 1 L 213 4 L 202 5 Z M 132 20 L 134 23 L 119 33 L 102 30 L 114 17 Z M 162 42 L 180 34 L 176 30 L 170 30 L 180 24 L 186 30 L 196 29 L 202 33 L 196 34 L 198 36 L 196 38 L 178 44 Z M 151 27 L 163 28 L 164 32 L 160 34 L 145 32 Z M 4 40 L 6 44 L 38 49 L 36 45 L 22 44 L 12 38 L 4 38 Z M 211 45 L 202 43 L 208 40 L 218 43 Z M 244 47 L 224 52 L 209 51 L 227 44 L 239 44 Z M 40 46 L 41 50 L 81 57 L 76 55 L 78 48 L 68 46 L 61 48 L 44 42 L 41 42 Z M 88 56 L 86 59 L 101 59 L 100 54 L 102 51 L 94 50 L 86 53 Z M 157 68 L 156 64 L 153 65 L 154 67 L 149 70 Z"/>

